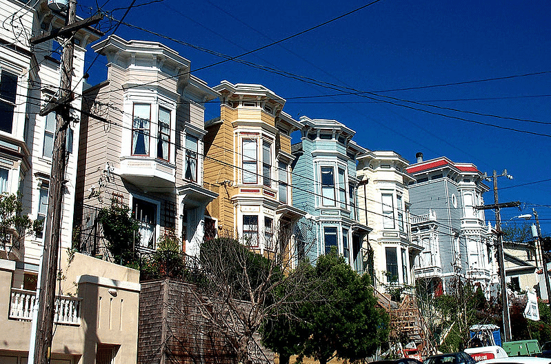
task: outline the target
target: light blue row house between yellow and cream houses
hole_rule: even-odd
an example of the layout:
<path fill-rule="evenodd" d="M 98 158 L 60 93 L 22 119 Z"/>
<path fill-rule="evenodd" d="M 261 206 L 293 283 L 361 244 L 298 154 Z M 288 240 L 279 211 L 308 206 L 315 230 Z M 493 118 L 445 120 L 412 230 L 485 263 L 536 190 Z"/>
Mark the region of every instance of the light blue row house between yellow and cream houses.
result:
<path fill-rule="evenodd" d="M 297 224 L 297 259 L 315 262 L 334 246 L 363 272 L 361 242 L 370 228 L 359 223 L 356 157 L 367 150 L 339 121 L 301 117 L 300 123 L 301 142 L 292 145 L 292 203 L 307 214 Z"/>

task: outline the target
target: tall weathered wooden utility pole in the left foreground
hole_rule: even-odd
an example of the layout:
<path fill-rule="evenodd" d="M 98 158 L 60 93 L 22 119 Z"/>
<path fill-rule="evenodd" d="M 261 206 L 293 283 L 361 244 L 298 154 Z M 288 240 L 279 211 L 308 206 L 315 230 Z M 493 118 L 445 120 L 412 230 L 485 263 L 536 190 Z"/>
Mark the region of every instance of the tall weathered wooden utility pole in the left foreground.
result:
<path fill-rule="evenodd" d="M 61 236 L 61 212 L 63 210 L 63 194 L 65 193 L 65 174 L 67 168 L 67 128 L 69 127 L 70 103 L 74 99 L 71 90 L 73 74 L 72 60 L 74 57 L 74 33 L 81 28 L 90 26 L 101 20 L 101 16 L 76 21 L 77 1 L 70 0 L 66 10 L 66 26 L 30 39 L 32 45 L 42 43 L 54 37 L 63 41 L 63 57 L 61 59 L 61 83 L 57 101 L 48 103 L 40 112 L 44 116 L 56 112 L 56 132 L 54 134 L 54 149 L 52 153 L 52 170 L 48 194 L 48 218 L 46 219 L 46 234 L 44 252 L 40 272 L 40 294 L 37 297 L 38 319 L 33 364 L 50 363 L 52 351 L 53 325 L 55 313 L 55 290 L 58 274 L 59 243 Z M 32 339 L 32 338 L 31 338 Z M 30 364 L 30 363 L 29 363 Z"/>

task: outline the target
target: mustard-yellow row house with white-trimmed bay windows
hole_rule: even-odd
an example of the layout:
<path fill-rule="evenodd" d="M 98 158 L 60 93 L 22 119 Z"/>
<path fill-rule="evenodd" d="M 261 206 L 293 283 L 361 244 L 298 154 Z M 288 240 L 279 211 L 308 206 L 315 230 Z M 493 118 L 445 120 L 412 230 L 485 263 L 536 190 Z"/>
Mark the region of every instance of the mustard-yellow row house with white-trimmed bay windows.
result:
<path fill-rule="evenodd" d="M 291 133 L 300 124 L 285 100 L 263 85 L 222 81 L 220 117 L 206 122 L 207 205 L 219 236 L 234 236 L 261 254 L 290 254 L 292 230 L 305 214 L 293 207 Z M 289 260 L 288 260 L 289 261 Z"/>

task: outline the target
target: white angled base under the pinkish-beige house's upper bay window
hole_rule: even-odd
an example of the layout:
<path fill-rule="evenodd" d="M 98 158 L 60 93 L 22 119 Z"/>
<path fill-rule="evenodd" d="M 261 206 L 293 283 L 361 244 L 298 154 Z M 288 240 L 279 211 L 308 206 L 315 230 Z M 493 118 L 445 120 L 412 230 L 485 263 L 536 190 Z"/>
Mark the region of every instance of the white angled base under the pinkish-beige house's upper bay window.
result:
<path fill-rule="evenodd" d="M 146 192 L 163 192 L 174 188 L 176 166 L 147 156 L 123 156 L 119 174 Z"/>

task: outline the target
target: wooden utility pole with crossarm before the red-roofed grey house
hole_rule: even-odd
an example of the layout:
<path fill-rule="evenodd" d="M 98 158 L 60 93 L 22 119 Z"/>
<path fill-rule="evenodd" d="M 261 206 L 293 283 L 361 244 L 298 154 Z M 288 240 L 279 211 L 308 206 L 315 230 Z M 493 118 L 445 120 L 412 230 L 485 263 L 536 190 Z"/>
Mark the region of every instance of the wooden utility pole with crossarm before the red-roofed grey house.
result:
<path fill-rule="evenodd" d="M 491 177 L 485 176 L 485 179 L 492 179 L 494 182 L 494 204 L 475 207 L 476 210 L 491 210 L 494 209 L 496 214 L 496 231 L 497 231 L 497 263 L 499 265 L 499 283 L 501 287 L 501 305 L 503 305 L 503 331 L 505 334 L 505 342 L 511 341 L 511 323 L 509 316 L 509 300 L 507 296 L 507 284 L 505 282 L 505 259 L 503 257 L 503 232 L 501 231 L 501 208 L 513 208 L 519 206 L 519 201 L 499 203 L 497 198 L 497 177 L 506 176 L 508 179 L 512 179 L 512 176 L 507 174 L 507 170 L 504 170 L 502 174 L 497 174 L 494 170 L 494 174 Z"/>

